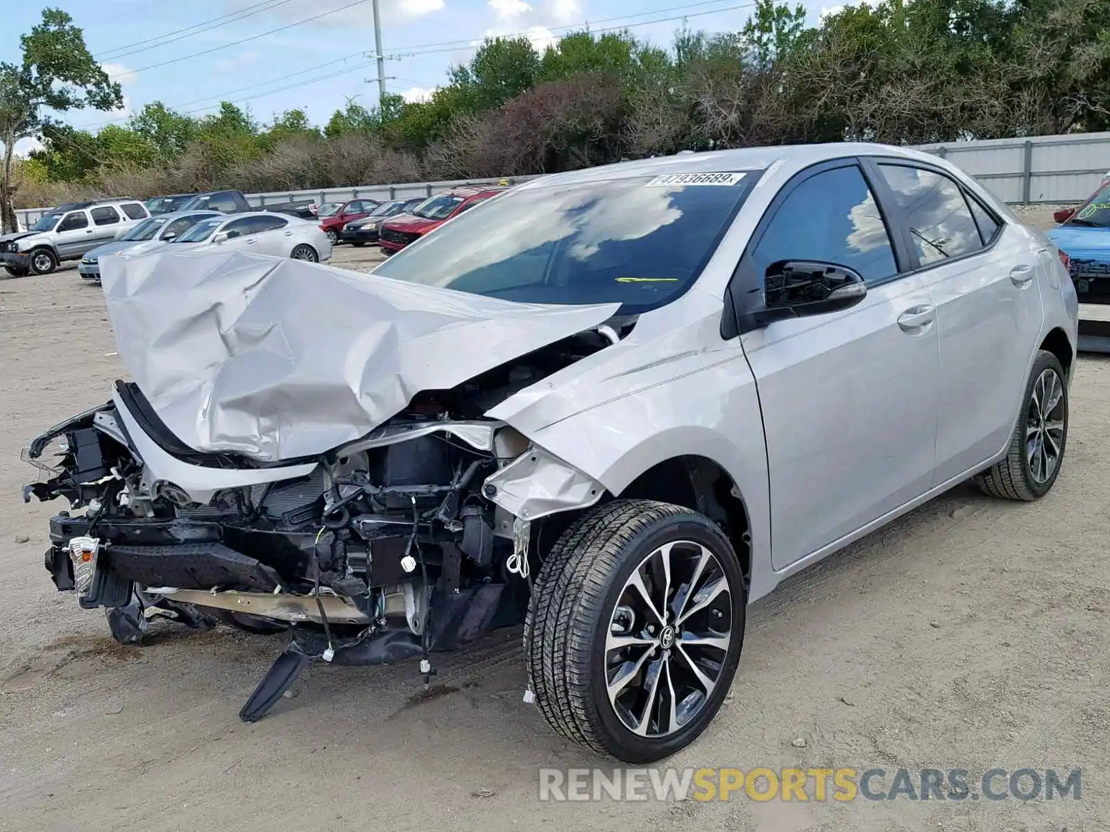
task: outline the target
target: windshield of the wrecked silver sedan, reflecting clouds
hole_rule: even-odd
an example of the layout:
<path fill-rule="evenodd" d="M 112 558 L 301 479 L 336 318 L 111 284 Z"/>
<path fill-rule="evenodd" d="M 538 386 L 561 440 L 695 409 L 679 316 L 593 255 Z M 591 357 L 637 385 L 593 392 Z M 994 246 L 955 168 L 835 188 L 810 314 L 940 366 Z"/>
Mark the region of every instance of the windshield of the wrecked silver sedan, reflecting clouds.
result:
<path fill-rule="evenodd" d="M 758 179 L 706 176 L 718 179 L 637 176 L 509 191 L 374 274 L 506 301 L 646 312 L 693 285 Z"/>

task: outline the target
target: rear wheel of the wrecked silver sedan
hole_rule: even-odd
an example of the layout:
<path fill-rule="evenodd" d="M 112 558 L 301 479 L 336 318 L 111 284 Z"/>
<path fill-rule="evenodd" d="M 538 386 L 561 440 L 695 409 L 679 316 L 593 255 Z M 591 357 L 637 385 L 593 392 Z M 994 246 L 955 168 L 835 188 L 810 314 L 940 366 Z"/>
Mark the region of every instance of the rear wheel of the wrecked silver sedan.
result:
<path fill-rule="evenodd" d="M 1035 500 L 1052 488 L 1068 443 L 1068 386 L 1060 359 L 1041 349 L 1033 361 L 1021 415 L 1006 458 L 976 476 L 991 497 Z"/>

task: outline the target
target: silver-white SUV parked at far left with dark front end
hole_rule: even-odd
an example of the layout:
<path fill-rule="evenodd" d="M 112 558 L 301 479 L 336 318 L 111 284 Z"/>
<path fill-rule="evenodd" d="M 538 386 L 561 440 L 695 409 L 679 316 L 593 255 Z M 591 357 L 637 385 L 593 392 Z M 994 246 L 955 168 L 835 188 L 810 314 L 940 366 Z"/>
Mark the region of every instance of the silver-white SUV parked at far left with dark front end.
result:
<path fill-rule="evenodd" d="M 150 212 L 138 200 L 79 202 L 53 209 L 24 232 L 0 236 L 0 264 L 13 277 L 50 274 L 115 240 Z"/>

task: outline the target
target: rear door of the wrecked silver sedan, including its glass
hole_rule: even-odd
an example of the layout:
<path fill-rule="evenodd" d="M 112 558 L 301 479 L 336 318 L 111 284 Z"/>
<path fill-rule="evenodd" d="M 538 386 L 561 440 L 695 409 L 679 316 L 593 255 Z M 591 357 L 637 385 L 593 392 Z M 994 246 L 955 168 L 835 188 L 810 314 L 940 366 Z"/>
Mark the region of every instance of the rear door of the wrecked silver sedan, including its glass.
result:
<path fill-rule="evenodd" d="M 1047 248 L 1001 221 L 944 169 L 874 160 L 889 184 L 940 337 L 937 479 L 966 477 L 1006 447 L 1040 338 Z"/>

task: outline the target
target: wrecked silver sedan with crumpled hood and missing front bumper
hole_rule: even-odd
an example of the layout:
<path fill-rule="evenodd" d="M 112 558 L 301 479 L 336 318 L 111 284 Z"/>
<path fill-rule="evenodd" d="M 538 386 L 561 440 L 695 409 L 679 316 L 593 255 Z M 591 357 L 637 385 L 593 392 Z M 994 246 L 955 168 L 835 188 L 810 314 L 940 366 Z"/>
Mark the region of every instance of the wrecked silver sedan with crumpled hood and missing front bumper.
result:
<path fill-rule="evenodd" d="M 658 760 L 718 711 L 749 602 L 962 480 L 1040 497 L 1063 458 L 1058 253 L 901 149 L 539 179 L 372 275 L 102 271 L 133 381 L 27 449 L 26 497 L 75 509 L 47 568 L 123 642 L 158 616 L 283 633 L 246 721 L 310 661 L 426 682 L 523 623 L 525 700 Z"/>

